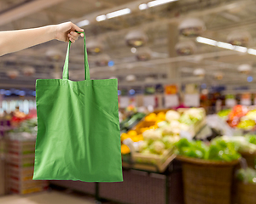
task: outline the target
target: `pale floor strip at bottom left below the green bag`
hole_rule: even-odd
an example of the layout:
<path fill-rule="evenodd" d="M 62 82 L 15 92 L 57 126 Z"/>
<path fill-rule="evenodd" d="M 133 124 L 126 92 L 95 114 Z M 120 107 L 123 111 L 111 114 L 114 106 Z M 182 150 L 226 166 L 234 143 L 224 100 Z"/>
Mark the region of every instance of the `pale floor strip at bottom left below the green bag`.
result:
<path fill-rule="evenodd" d="M 68 195 L 61 192 L 43 192 L 32 195 L 7 195 L 0 197 L 1 204 L 94 204 L 76 195 Z"/>

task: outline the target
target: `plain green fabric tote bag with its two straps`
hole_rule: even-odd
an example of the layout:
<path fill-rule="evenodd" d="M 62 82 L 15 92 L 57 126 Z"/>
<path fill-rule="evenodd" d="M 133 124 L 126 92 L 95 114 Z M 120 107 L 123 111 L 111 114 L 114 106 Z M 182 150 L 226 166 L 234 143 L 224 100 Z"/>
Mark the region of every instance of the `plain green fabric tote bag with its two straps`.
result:
<path fill-rule="evenodd" d="M 38 79 L 38 137 L 34 180 L 123 181 L 117 79 L 90 80 L 84 35 L 85 80 Z"/>

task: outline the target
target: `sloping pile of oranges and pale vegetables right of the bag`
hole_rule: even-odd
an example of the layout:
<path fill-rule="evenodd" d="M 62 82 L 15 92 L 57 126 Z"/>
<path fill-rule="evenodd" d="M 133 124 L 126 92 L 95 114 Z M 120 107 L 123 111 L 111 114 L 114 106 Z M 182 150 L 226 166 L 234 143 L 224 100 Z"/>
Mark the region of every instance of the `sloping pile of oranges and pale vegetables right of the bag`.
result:
<path fill-rule="evenodd" d="M 150 113 L 144 118 L 148 127 L 122 133 L 121 141 L 131 139 L 135 150 L 143 155 L 165 156 L 180 139 L 181 131 L 188 131 L 191 125 L 203 117 L 204 111 L 196 108 L 185 110 L 182 114 L 172 110 Z M 122 154 L 130 152 L 125 144 L 122 144 L 121 151 Z"/>

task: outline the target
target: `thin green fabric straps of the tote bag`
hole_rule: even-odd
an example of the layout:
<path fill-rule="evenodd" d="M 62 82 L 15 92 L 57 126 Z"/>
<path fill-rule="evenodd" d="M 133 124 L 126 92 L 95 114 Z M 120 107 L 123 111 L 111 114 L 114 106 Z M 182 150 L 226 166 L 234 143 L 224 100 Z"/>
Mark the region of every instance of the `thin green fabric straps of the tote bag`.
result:
<path fill-rule="evenodd" d="M 84 33 L 84 31 L 83 32 L 76 31 L 76 32 L 79 33 L 79 34 Z M 64 67 L 63 67 L 62 79 L 68 79 L 69 78 L 69 75 L 68 75 L 68 59 L 69 59 L 70 45 L 71 45 L 71 42 L 69 41 L 68 46 L 67 46 L 67 54 L 66 54 L 65 64 L 64 64 Z M 90 80 L 90 71 L 89 71 L 89 64 L 88 64 L 85 34 L 84 34 L 84 79 L 85 80 Z"/>

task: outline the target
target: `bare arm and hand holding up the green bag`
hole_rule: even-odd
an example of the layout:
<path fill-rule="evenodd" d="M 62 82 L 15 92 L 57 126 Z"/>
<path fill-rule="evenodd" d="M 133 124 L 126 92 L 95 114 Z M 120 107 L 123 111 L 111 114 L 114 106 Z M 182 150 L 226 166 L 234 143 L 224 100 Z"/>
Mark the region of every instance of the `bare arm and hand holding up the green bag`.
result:
<path fill-rule="evenodd" d="M 72 22 L 17 31 L 0 31 L 0 56 L 30 48 L 51 40 L 75 42 L 79 36 L 75 31 L 84 31 Z"/>

